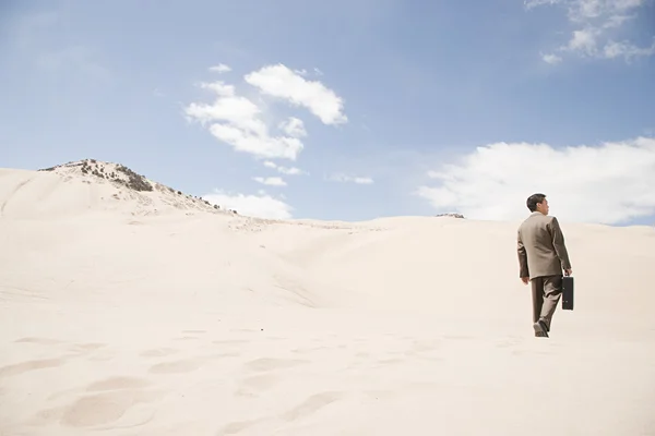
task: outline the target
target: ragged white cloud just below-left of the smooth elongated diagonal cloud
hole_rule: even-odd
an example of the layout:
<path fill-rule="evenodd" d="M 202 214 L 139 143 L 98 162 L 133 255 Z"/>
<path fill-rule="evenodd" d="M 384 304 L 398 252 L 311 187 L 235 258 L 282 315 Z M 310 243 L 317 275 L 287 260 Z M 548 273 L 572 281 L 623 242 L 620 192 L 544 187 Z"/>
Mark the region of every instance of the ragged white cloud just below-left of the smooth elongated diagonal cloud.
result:
<path fill-rule="evenodd" d="M 233 85 L 223 81 L 203 83 L 201 87 L 216 94 L 213 104 L 192 102 L 184 108 L 187 119 L 209 124 L 209 131 L 219 141 L 261 158 L 296 160 L 303 149 L 297 137 L 274 136 L 262 120 L 262 110 L 252 100 L 236 95 Z"/>

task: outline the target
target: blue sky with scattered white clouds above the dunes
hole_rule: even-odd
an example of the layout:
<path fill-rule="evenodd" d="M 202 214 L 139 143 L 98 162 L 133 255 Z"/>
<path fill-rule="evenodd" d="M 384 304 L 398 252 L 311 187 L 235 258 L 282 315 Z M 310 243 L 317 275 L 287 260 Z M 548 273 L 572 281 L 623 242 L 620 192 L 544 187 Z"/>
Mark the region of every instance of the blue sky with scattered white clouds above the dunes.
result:
<path fill-rule="evenodd" d="M 0 167 L 241 215 L 655 223 L 655 0 L 0 0 Z"/>

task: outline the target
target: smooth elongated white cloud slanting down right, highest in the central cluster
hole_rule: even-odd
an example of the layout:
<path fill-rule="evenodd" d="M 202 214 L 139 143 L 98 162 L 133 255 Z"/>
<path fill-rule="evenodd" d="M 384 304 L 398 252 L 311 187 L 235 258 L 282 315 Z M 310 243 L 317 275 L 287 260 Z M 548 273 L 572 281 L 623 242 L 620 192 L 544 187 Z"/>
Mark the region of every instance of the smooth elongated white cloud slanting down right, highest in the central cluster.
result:
<path fill-rule="evenodd" d="M 348 121 L 343 113 L 343 99 L 334 90 L 329 89 L 321 82 L 307 81 L 283 64 L 264 66 L 247 74 L 245 80 L 262 94 L 307 108 L 324 124 Z"/>

